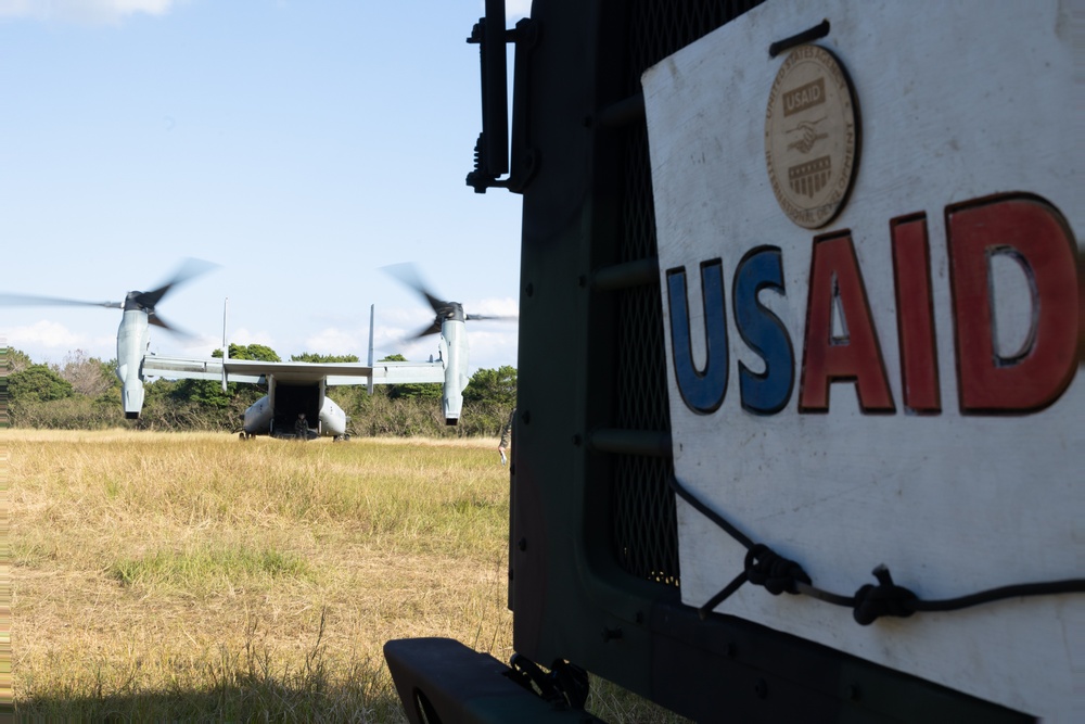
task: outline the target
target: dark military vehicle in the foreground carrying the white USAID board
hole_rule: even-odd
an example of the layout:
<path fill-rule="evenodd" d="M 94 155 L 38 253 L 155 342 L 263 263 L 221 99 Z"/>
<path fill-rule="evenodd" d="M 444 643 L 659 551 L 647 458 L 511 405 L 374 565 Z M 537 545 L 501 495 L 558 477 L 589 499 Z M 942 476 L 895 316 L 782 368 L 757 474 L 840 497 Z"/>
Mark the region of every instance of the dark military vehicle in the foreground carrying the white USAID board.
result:
<path fill-rule="evenodd" d="M 410 721 L 1082 721 L 1071 4 L 487 2 L 515 656 L 388 642 Z"/>

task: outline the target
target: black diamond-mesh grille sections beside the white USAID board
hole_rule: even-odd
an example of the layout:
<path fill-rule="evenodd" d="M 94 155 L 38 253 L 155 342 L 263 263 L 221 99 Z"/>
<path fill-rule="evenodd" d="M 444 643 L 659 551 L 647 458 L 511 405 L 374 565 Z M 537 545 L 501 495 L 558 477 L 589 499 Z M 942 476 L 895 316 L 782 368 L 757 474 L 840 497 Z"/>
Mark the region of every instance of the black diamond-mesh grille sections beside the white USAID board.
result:
<path fill-rule="evenodd" d="M 636 0 L 629 3 L 627 39 L 629 96 L 640 92 L 640 75 L 676 50 L 758 4 L 712 0 Z M 642 124 L 626 134 L 623 151 L 622 262 L 656 255 L 648 134 Z M 626 430 L 666 432 L 666 359 L 662 300 L 658 287 L 618 295 L 616 424 Z M 674 494 L 667 481 L 671 458 L 617 456 L 614 466 L 612 518 L 614 552 L 633 575 L 678 585 L 678 530 Z"/>

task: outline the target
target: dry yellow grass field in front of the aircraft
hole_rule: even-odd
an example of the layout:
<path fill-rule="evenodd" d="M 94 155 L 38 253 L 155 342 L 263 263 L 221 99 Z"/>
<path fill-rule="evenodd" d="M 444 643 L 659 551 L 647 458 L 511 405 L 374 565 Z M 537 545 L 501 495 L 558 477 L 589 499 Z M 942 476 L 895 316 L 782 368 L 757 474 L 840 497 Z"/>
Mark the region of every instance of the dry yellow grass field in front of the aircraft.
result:
<path fill-rule="evenodd" d="M 0 430 L 18 719 L 405 722 L 384 642 L 512 653 L 496 445 Z"/>

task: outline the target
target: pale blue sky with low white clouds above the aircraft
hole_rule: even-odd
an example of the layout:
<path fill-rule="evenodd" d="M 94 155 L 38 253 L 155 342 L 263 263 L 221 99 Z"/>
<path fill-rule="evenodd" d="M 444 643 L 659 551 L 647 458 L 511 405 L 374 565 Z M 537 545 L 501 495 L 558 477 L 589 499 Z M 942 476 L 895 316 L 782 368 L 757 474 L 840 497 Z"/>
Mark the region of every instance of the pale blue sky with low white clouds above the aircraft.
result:
<path fill-rule="evenodd" d="M 510 0 L 508 25 L 528 11 Z M 159 354 L 229 339 L 283 358 L 378 356 L 432 315 L 381 267 L 418 265 L 469 312 L 515 314 L 520 196 L 464 183 L 481 129 L 482 0 L 0 0 L 0 292 L 122 300 L 187 257 Z M 510 53 L 511 67 L 511 53 Z M 511 71 L 510 71 L 511 73 Z M 119 312 L 2 307 L 36 361 L 116 355 Z M 470 328 L 471 367 L 516 325 Z"/>

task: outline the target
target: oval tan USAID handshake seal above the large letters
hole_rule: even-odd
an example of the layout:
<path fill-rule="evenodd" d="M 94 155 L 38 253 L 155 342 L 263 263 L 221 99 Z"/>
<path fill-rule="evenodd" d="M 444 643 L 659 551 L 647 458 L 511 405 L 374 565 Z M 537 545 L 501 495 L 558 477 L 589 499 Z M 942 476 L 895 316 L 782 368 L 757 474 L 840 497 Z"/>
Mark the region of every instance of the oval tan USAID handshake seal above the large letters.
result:
<path fill-rule="evenodd" d="M 844 69 L 824 48 L 799 46 L 776 74 L 765 112 L 765 162 L 783 213 L 806 229 L 831 221 L 852 187 L 857 153 Z"/>

